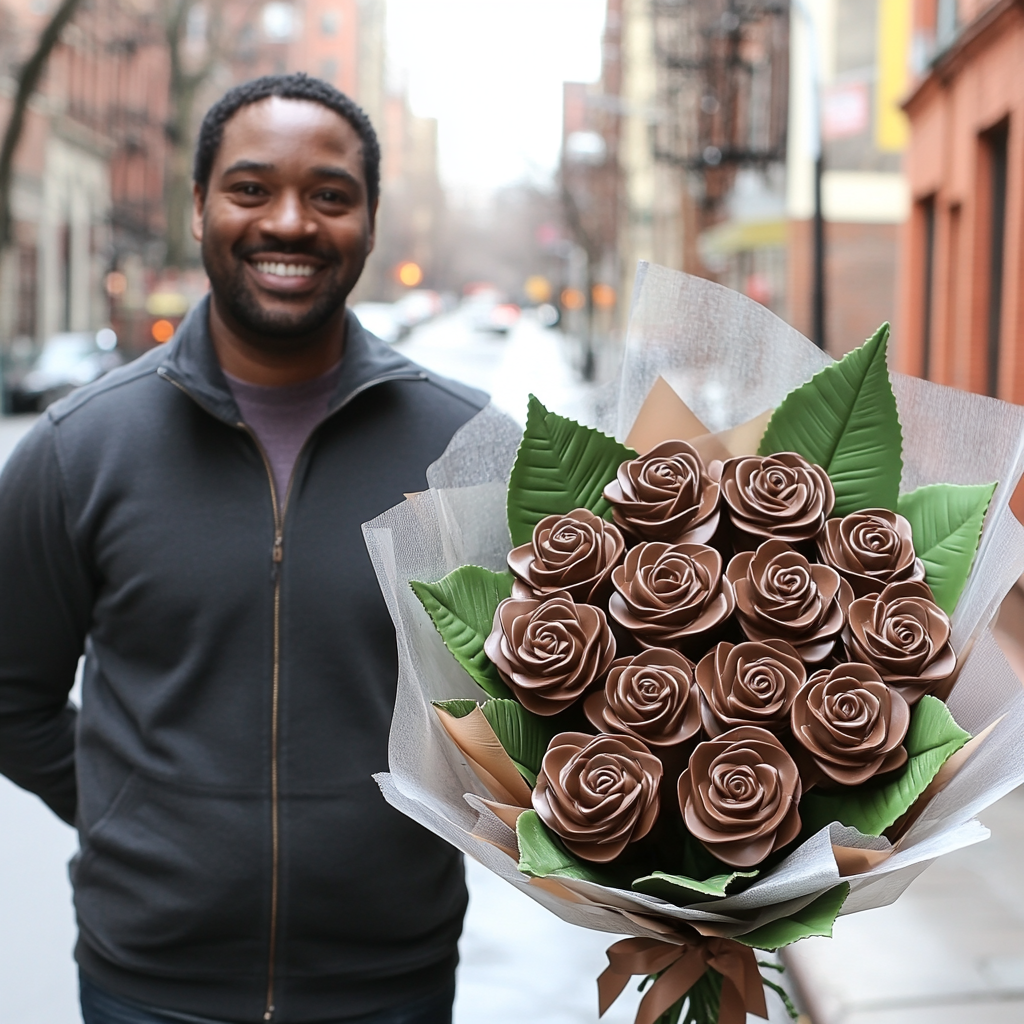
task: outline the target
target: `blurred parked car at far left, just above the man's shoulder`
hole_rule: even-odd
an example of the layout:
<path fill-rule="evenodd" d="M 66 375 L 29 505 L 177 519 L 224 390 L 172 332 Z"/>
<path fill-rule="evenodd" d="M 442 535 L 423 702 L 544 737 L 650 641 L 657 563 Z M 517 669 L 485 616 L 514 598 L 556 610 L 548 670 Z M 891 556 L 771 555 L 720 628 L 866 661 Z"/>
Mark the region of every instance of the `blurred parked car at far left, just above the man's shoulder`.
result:
<path fill-rule="evenodd" d="M 124 359 L 110 329 L 54 334 L 47 339 L 28 372 L 9 385 L 12 413 L 41 413 L 83 384 L 98 380 Z"/>

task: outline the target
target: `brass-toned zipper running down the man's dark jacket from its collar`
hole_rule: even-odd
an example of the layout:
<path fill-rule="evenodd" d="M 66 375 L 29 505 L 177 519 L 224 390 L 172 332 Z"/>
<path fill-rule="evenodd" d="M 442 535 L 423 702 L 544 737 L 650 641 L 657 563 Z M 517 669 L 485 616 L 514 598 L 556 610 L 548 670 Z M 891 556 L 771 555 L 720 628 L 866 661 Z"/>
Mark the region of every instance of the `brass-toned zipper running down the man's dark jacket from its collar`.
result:
<path fill-rule="evenodd" d="M 169 376 L 163 368 L 158 370 L 157 373 L 159 376 L 163 377 L 164 380 L 173 384 L 183 394 L 186 394 L 189 398 L 191 398 L 191 400 L 195 401 L 201 409 L 210 413 L 210 415 L 215 419 L 221 419 L 221 417 L 207 409 L 207 407 L 200 401 L 183 384 L 179 384 L 173 377 Z M 285 501 L 280 508 L 278 506 L 278 487 L 273 479 L 273 467 L 270 465 L 270 460 L 267 457 L 266 450 L 260 443 L 255 431 L 248 424 L 243 423 L 242 421 L 234 424 L 236 427 L 253 439 L 253 443 L 255 443 L 256 449 L 263 460 L 263 466 L 266 469 L 267 479 L 270 482 L 270 501 L 273 505 L 273 546 L 270 549 L 270 582 L 273 584 L 273 670 L 271 675 L 272 683 L 270 696 L 270 861 L 272 874 L 270 879 L 270 939 L 267 950 L 266 1004 L 263 1010 L 263 1020 L 266 1022 L 273 1020 L 273 1013 L 275 1010 L 273 1005 L 275 981 L 274 968 L 278 956 L 278 904 L 281 878 L 281 818 L 278 773 L 278 733 L 279 710 L 281 702 L 281 566 L 285 559 L 285 514 L 288 511 L 288 500 L 292 494 L 292 484 L 295 481 L 295 471 L 299 467 L 299 463 L 302 460 L 302 456 L 305 453 L 310 439 L 313 434 L 315 434 L 316 431 L 329 419 L 331 419 L 332 416 L 339 413 L 353 398 L 362 394 L 364 391 L 367 391 L 372 387 L 376 387 L 378 384 L 385 384 L 388 381 L 426 379 L 427 374 L 423 372 L 385 374 L 381 377 L 375 377 L 373 380 L 369 380 L 365 384 L 360 384 L 357 388 L 354 388 L 352 391 L 349 391 L 349 393 L 346 394 L 345 397 L 338 402 L 338 404 L 335 406 L 335 408 L 332 409 L 328 415 L 312 428 L 312 430 L 309 431 L 309 436 L 305 439 L 302 447 L 299 450 L 299 454 L 295 457 L 295 465 L 292 467 L 292 473 L 288 479 L 288 489 L 285 492 Z"/>

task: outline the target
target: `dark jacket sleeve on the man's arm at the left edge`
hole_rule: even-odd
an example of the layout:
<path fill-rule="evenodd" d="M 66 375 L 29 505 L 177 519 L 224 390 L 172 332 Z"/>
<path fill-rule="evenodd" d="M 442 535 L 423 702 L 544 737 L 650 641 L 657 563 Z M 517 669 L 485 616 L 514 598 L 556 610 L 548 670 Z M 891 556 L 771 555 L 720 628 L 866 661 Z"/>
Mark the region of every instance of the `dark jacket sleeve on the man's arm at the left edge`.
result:
<path fill-rule="evenodd" d="M 75 818 L 68 699 L 93 584 L 72 542 L 55 427 L 43 416 L 0 473 L 0 772 Z"/>

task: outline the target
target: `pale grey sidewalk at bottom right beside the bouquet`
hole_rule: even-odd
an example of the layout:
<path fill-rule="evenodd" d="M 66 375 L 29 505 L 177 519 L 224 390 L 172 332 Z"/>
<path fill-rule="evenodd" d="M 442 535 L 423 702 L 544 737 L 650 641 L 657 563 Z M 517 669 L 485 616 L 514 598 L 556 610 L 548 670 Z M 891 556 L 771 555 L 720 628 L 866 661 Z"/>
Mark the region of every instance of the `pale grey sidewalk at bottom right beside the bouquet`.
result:
<path fill-rule="evenodd" d="M 1024 676 L 1024 592 L 996 640 Z M 981 815 L 992 836 L 942 857 L 892 906 L 840 918 L 787 953 L 813 1024 L 1024 1021 L 1024 787 Z"/>

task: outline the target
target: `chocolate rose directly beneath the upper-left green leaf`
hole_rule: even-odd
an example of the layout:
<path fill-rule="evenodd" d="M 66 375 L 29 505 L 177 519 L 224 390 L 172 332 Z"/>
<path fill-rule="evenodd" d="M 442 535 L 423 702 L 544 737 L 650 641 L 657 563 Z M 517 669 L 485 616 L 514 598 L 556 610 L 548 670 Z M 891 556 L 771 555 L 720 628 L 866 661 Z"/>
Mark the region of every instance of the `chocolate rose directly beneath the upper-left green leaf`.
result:
<path fill-rule="evenodd" d="M 611 591 L 611 570 L 625 550 L 614 526 L 587 509 L 574 509 L 542 519 L 534 540 L 509 552 L 508 563 L 527 591 L 523 597 L 564 591 L 574 601 L 597 604 Z"/>

